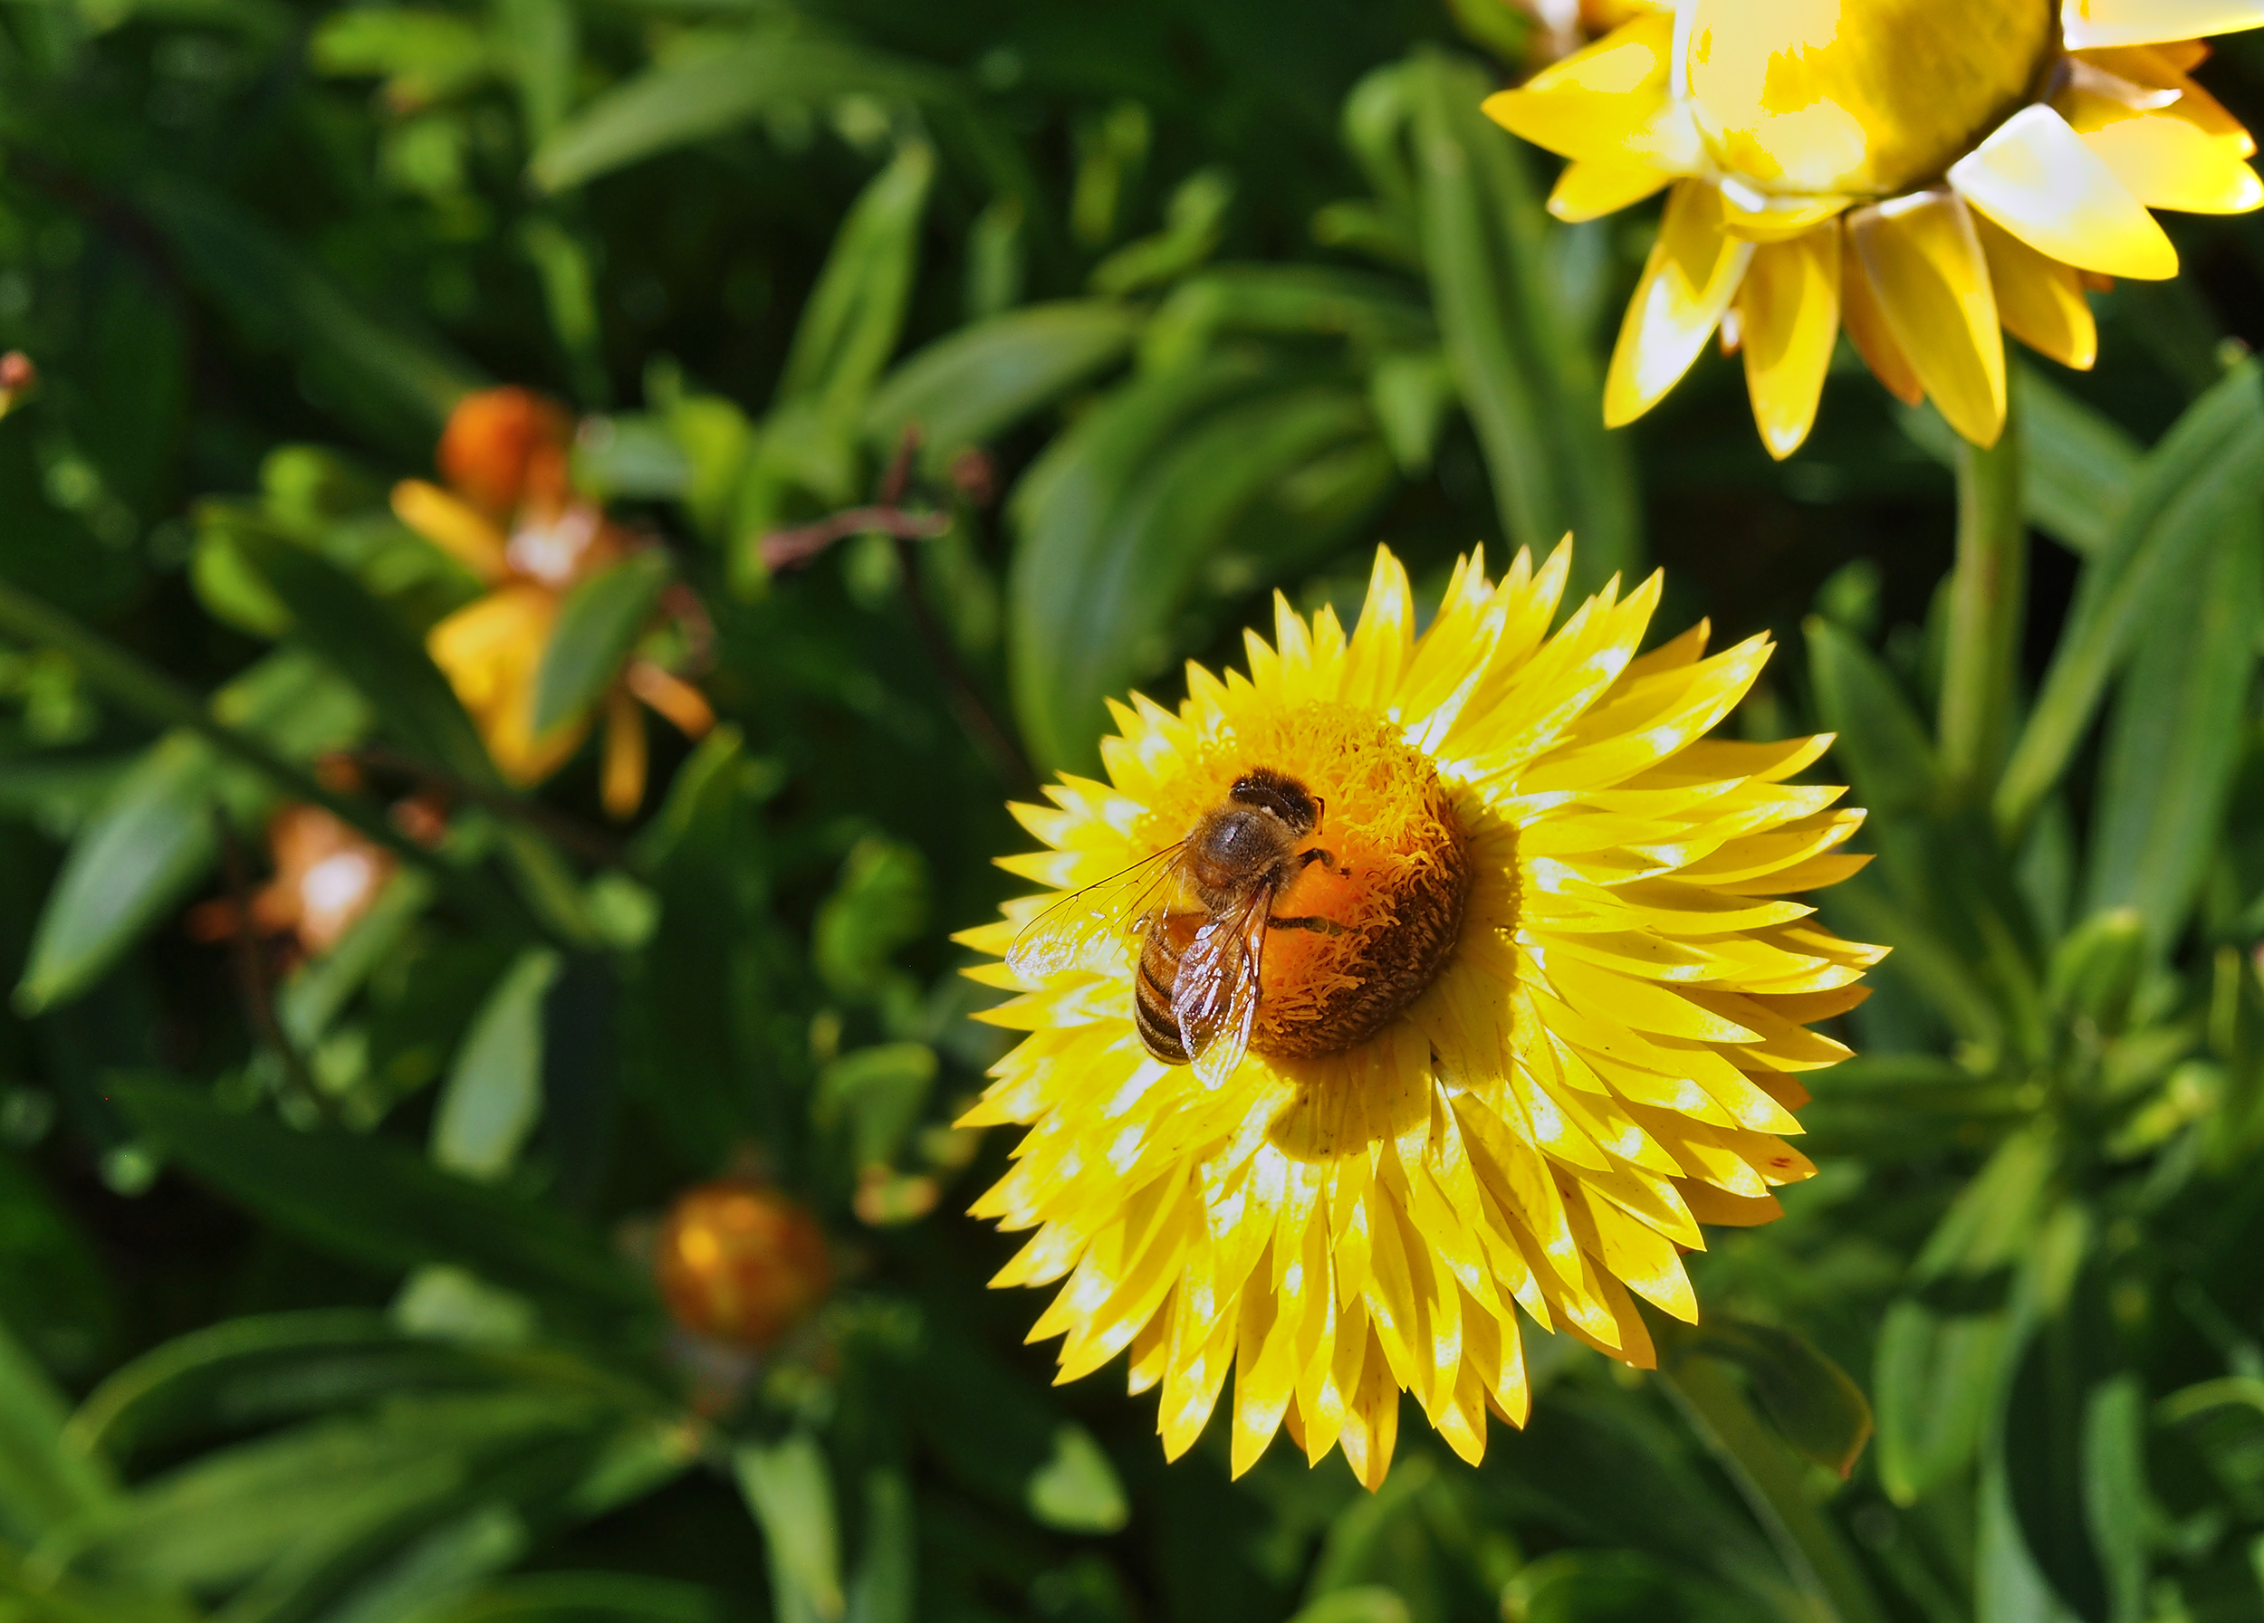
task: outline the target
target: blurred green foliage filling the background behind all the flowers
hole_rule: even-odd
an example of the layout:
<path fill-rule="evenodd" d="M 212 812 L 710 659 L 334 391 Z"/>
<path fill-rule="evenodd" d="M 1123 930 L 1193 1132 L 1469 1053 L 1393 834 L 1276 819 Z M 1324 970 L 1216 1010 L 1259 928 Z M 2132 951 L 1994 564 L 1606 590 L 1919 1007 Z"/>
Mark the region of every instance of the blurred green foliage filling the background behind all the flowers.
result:
<path fill-rule="evenodd" d="M 1478 118 L 1519 36 L 0 16 L 0 344 L 43 373 L 0 423 L 0 1616 L 2264 1614 L 2264 233 L 2103 297 L 2099 373 L 2024 371 L 1997 457 L 1845 376 L 1780 469 L 1727 364 L 1605 435 L 1644 233 L 1551 224 Z M 2207 77 L 2264 111 L 2253 36 Z M 625 833 L 595 747 L 507 788 L 423 652 L 478 584 L 385 489 L 489 380 L 573 401 L 577 480 L 666 543 L 568 602 L 543 715 L 704 604 L 722 724 L 657 733 Z M 1958 480 L 2010 595 L 1945 577 Z M 919 523 L 822 530 L 872 503 Z M 1377 539 L 1435 591 L 1564 530 L 1585 586 L 1669 566 L 1664 632 L 1777 629 L 1739 724 L 1836 731 L 1872 808 L 1829 917 L 1895 958 L 1823 1175 L 1718 1236 L 1657 1379 L 1535 1338 L 1483 1469 L 1413 1424 L 1372 1499 L 1286 1446 L 1229 1485 L 1216 1435 L 1164 1467 L 1148 1403 L 1048 1385 L 958 1216 L 1005 1152 L 949 1125 L 1003 801 L 1268 589 L 1349 611 Z M 385 806 L 432 785 L 437 847 Z M 181 921 L 290 801 L 394 876 L 247 976 Z M 638 1261 L 729 1170 L 838 1256 L 761 1360 Z"/>

